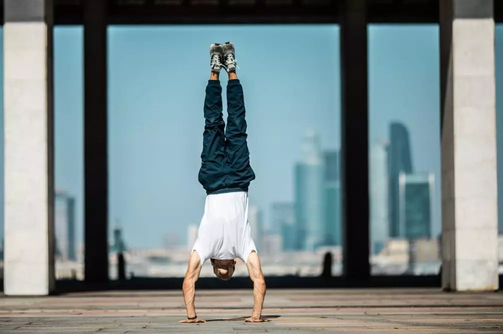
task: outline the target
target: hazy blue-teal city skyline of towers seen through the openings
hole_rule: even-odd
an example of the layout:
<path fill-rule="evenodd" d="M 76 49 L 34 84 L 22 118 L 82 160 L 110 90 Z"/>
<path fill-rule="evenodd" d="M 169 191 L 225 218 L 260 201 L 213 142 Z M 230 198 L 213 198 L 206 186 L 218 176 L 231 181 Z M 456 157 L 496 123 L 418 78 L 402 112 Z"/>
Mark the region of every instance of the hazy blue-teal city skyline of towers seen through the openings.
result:
<path fill-rule="evenodd" d="M 431 238 L 431 225 L 432 225 L 432 212 L 431 206 L 435 199 L 434 194 L 434 173 L 412 173 L 412 163 L 410 161 L 410 151 L 408 145 L 408 130 L 407 128 L 396 122 L 392 122 L 390 127 L 390 138 L 395 136 L 393 140 L 385 139 L 381 140 L 379 143 L 374 143 L 370 148 L 370 231 L 371 231 L 371 252 L 377 254 L 390 238 L 417 238 L 417 237 L 427 237 Z M 397 135 L 397 130 L 398 134 Z M 272 203 L 272 222 L 276 227 L 280 227 L 279 230 L 275 229 L 265 231 L 263 226 L 263 212 L 266 208 L 258 207 L 257 205 L 250 205 L 248 208 L 248 221 L 251 227 L 252 235 L 256 242 L 257 248 L 261 249 L 263 242 L 263 236 L 265 234 L 278 234 L 281 236 L 282 249 L 284 251 L 289 250 L 311 250 L 315 251 L 317 248 L 322 246 L 338 246 L 341 245 L 341 194 L 340 194 L 340 159 L 339 150 L 323 150 L 320 147 L 318 135 L 316 131 L 308 129 L 303 137 L 301 149 L 303 153 L 303 158 L 301 161 L 295 164 L 296 177 L 295 185 L 296 193 L 302 194 L 306 193 L 306 196 L 296 197 L 296 201 L 292 203 L 288 202 L 273 202 Z M 402 143 L 403 141 L 403 143 Z M 393 152 L 393 145 L 399 147 L 398 151 L 402 151 L 401 154 L 396 154 Z M 397 151 L 395 149 L 395 151 Z M 405 155 L 405 159 L 402 156 Z M 399 160 L 399 163 L 403 164 L 405 167 L 396 167 L 394 160 Z M 382 166 L 381 166 L 382 165 Z M 402 166 L 403 167 L 403 166 Z M 307 170 L 307 173 L 306 173 Z M 396 174 L 396 175 L 395 175 Z M 426 208 L 427 214 L 430 216 L 428 218 L 428 226 L 426 227 L 427 233 L 422 235 L 413 235 L 407 233 L 410 229 L 409 223 L 405 221 L 405 208 L 408 200 L 404 191 L 404 184 L 408 184 L 406 180 L 412 180 L 413 183 L 420 184 L 423 175 L 426 176 L 426 181 L 428 183 L 428 207 Z M 377 176 L 377 177 L 376 177 Z M 396 177 L 397 193 L 392 194 L 388 192 L 392 187 L 395 186 L 393 182 L 389 182 L 393 177 Z M 314 188 L 313 188 L 314 186 Z M 319 192 L 318 195 L 313 196 L 313 192 Z M 393 208 L 388 205 L 388 203 L 393 202 L 393 197 L 396 196 L 395 200 L 397 203 L 397 218 L 398 226 L 395 234 L 392 234 L 391 226 L 391 213 Z M 410 197 L 410 195 L 408 195 Z M 56 248 L 58 248 L 58 241 L 63 240 L 64 249 L 66 252 L 66 243 L 72 238 L 68 237 L 62 238 L 61 230 L 63 233 L 66 232 L 66 225 L 68 221 L 68 227 L 71 229 L 69 235 L 73 236 L 73 203 L 74 199 L 69 197 L 67 194 L 59 191 L 56 193 L 56 200 L 69 201 L 71 203 L 71 213 L 64 212 L 66 214 L 63 218 L 58 218 L 60 215 L 56 213 Z M 314 198 L 314 200 L 313 200 Z M 302 208 L 302 201 L 308 200 L 306 203 L 307 211 L 305 213 L 299 211 Z M 384 201 L 383 201 L 384 200 Z M 411 197 L 410 200 L 415 200 Z M 57 201 L 56 201 L 57 202 Z M 68 204 L 67 204 L 68 205 Z M 313 205 L 317 209 L 313 210 Z M 417 205 L 417 204 L 416 204 Z M 384 211 L 383 211 L 384 209 Z M 420 207 L 420 211 L 422 207 Z M 277 212 L 275 212 L 277 211 Z M 291 211 L 291 212 L 289 212 Z M 402 212 L 403 211 L 403 212 Z M 57 211 L 58 212 L 58 211 Z M 422 213 L 417 210 L 413 211 L 417 213 Z M 70 217 L 71 216 L 71 217 Z M 291 216 L 291 217 L 289 217 Z M 305 217 L 313 216 L 317 217 L 319 220 L 317 224 L 312 224 L 312 220 L 304 221 Z M 62 225 L 63 224 L 63 225 Z M 112 248 L 117 245 L 117 240 L 121 237 L 117 236 L 117 233 L 121 234 L 121 229 L 118 228 L 118 223 L 114 227 L 114 242 L 111 244 Z M 412 223 L 410 223 L 412 224 Z M 285 226 L 288 225 L 288 226 Z M 58 228 L 59 226 L 59 228 Z M 71 228 L 70 228 L 71 227 Z M 188 246 L 190 247 L 197 236 L 198 225 L 188 226 Z M 307 229 L 307 228 L 310 229 Z M 293 238 L 291 241 L 289 241 Z M 299 239 L 301 238 L 301 239 Z M 183 245 L 180 243 L 179 238 L 170 238 L 171 242 L 166 241 L 166 247 L 178 247 Z M 73 253 L 74 254 L 74 241 L 72 241 Z M 122 241 L 121 241 L 122 243 Z M 74 259 L 74 255 L 70 258 Z"/>

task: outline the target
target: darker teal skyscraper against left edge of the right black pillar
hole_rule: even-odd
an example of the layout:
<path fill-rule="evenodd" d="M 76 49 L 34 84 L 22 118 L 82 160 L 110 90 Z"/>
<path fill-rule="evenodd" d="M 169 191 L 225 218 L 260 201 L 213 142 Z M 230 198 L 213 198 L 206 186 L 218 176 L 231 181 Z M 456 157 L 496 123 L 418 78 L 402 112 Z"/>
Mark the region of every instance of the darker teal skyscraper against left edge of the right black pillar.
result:
<path fill-rule="evenodd" d="M 323 244 L 341 244 L 341 182 L 339 173 L 339 152 L 325 151 L 324 160 L 324 205 L 325 232 Z"/>

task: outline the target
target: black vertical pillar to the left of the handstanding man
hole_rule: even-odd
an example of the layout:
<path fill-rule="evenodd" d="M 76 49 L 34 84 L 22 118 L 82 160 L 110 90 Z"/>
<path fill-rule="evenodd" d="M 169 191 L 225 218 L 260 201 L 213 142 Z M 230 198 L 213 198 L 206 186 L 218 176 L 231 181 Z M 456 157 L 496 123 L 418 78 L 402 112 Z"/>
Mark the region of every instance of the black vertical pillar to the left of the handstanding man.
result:
<path fill-rule="evenodd" d="M 107 1 L 84 3 L 85 279 L 108 281 Z"/>

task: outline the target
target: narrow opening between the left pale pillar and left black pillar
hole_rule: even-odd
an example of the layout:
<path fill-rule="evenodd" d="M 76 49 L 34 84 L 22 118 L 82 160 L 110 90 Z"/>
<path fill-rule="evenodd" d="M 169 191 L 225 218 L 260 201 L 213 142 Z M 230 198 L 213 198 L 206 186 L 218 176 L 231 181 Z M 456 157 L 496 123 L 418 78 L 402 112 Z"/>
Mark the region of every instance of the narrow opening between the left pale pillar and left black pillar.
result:
<path fill-rule="evenodd" d="M 56 279 L 82 280 L 83 29 L 54 27 L 54 233 Z"/>

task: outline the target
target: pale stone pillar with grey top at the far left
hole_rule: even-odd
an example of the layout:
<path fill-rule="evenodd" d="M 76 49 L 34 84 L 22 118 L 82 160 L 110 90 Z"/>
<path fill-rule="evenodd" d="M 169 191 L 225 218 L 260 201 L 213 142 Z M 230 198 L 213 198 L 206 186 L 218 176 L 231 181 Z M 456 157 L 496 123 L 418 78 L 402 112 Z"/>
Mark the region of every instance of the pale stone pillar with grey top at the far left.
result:
<path fill-rule="evenodd" d="M 52 1 L 4 0 L 8 295 L 54 287 Z"/>

